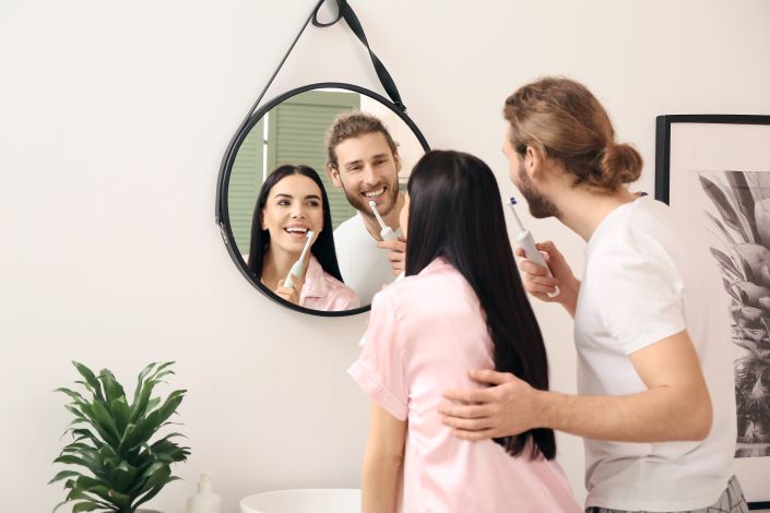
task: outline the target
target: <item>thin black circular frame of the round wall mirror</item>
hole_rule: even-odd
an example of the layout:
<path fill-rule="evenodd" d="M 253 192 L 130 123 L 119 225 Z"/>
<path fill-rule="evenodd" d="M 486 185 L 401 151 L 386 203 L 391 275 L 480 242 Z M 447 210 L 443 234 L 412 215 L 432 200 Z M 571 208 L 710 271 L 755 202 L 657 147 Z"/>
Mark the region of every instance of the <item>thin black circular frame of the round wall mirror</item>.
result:
<path fill-rule="evenodd" d="M 358 313 L 367 312 L 371 308 L 371 305 L 365 305 L 363 307 L 355 308 L 353 310 L 342 310 L 342 311 L 322 311 L 322 310 L 313 310 L 310 308 L 305 308 L 300 307 L 299 305 L 294 305 L 293 302 L 286 301 L 285 299 L 280 298 L 275 294 L 273 294 L 272 290 L 268 289 L 257 278 L 257 276 L 249 270 L 246 265 L 246 262 L 244 261 L 240 252 L 238 251 L 238 247 L 235 243 L 235 238 L 233 237 L 233 230 L 230 228 L 230 223 L 229 223 L 229 205 L 227 202 L 227 190 L 229 187 L 229 178 L 230 178 L 230 172 L 233 170 L 233 165 L 235 163 L 235 157 L 238 154 L 238 150 L 240 148 L 240 145 L 244 143 L 244 140 L 246 140 L 246 136 L 249 134 L 251 129 L 253 128 L 254 124 L 259 122 L 262 117 L 270 111 L 273 107 L 276 105 L 281 104 L 282 102 L 291 98 L 292 96 L 296 96 L 298 94 L 305 93 L 307 91 L 311 90 L 319 90 L 319 88 L 340 88 L 340 90 L 347 90 L 347 91 L 353 91 L 355 93 L 363 94 L 365 96 L 368 96 L 372 99 L 376 99 L 380 104 L 384 105 L 388 107 L 390 110 L 392 110 L 399 118 L 401 118 L 402 121 L 406 123 L 406 126 L 412 130 L 412 133 L 415 134 L 417 138 L 417 141 L 419 141 L 419 144 L 423 146 L 423 150 L 426 152 L 430 150 L 430 146 L 428 146 L 427 141 L 425 140 L 425 136 L 423 136 L 423 133 L 419 131 L 417 126 L 412 121 L 412 119 L 406 115 L 406 112 L 398 107 L 395 104 L 393 104 L 391 100 L 387 99 L 386 97 L 369 91 L 367 88 L 353 85 L 353 84 L 346 84 L 342 82 L 320 82 L 316 84 L 308 84 L 304 85 L 301 87 L 297 87 L 294 90 L 291 90 L 286 93 L 283 93 L 282 95 L 271 99 L 266 104 L 264 104 L 262 107 L 260 107 L 249 119 L 247 122 L 245 122 L 236 132 L 236 134 L 233 136 L 230 140 L 229 145 L 227 146 L 227 151 L 225 152 L 224 158 L 222 159 L 222 165 L 220 167 L 220 176 L 217 178 L 217 183 L 216 183 L 216 224 L 220 226 L 220 232 L 222 234 L 222 239 L 225 242 L 225 247 L 227 248 L 227 252 L 229 253 L 230 258 L 233 259 L 233 262 L 235 262 L 236 267 L 238 267 L 238 271 L 240 271 L 240 274 L 248 279 L 248 282 L 260 293 L 262 293 L 264 296 L 270 298 L 271 300 L 277 302 L 279 305 L 283 307 L 291 308 L 292 310 L 303 312 L 303 313 L 308 313 L 311 315 L 319 315 L 319 317 L 347 317 L 347 315 L 355 315 Z"/>

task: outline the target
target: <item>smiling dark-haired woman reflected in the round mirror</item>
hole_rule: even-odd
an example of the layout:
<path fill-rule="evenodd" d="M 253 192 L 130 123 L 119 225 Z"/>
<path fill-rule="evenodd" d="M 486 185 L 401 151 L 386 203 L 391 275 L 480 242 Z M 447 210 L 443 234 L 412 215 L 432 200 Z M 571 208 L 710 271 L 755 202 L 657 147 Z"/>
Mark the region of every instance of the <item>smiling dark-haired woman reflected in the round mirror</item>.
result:
<path fill-rule="evenodd" d="M 293 287 L 285 287 L 284 281 L 305 248 L 308 230 L 316 236 L 306 255 L 305 272 L 294 278 Z M 360 306 L 356 293 L 342 283 L 327 191 L 308 166 L 280 166 L 262 184 L 246 261 L 262 284 L 286 301 L 322 311 Z"/>

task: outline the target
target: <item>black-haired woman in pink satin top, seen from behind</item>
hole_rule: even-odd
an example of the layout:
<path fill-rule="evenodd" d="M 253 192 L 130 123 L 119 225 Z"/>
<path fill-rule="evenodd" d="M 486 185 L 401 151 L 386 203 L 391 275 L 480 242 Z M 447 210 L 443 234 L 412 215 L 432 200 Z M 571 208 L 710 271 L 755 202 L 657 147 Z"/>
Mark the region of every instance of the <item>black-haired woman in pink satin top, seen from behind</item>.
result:
<path fill-rule="evenodd" d="M 428 152 L 405 200 L 406 277 L 375 296 L 348 371 L 371 398 L 364 512 L 580 512 L 553 430 L 471 442 L 438 413 L 442 391 L 479 386 L 467 369 L 506 369 L 548 389 L 491 170 L 472 155 Z"/>

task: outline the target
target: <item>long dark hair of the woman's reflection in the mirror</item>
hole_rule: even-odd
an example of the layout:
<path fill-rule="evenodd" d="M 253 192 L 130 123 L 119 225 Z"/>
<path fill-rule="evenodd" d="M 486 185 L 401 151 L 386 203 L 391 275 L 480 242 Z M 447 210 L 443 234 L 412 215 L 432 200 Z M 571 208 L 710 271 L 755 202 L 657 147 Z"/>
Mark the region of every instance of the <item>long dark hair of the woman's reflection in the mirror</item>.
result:
<path fill-rule="evenodd" d="M 262 183 L 262 189 L 259 192 L 259 198 L 257 199 L 257 204 L 254 205 L 254 214 L 251 218 L 251 246 L 249 248 L 249 261 L 247 266 L 257 275 L 258 278 L 262 277 L 262 263 L 264 259 L 264 253 L 268 251 L 268 246 L 270 246 L 270 232 L 262 229 L 262 211 L 270 196 L 270 191 L 273 189 L 277 182 L 283 180 L 289 175 L 301 175 L 308 177 L 316 182 L 318 188 L 321 190 L 321 200 L 323 201 L 323 229 L 318 234 L 316 242 L 313 242 L 310 248 L 310 252 L 318 259 L 318 262 L 323 267 L 323 271 L 331 274 L 340 282 L 342 282 L 342 275 L 340 274 L 340 265 L 336 262 L 336 251 L 334 250 L 334 232 L 332 230 L 332 215 L 329 211 L 329 198 L 327 196 L 327 190 L 323 188 L 323 182 L 311 167 L 308 166 L 294 166 L 292 164 L 284 164 L 275 168 L 273 172 L 268 176 L 268 179 Z"/>

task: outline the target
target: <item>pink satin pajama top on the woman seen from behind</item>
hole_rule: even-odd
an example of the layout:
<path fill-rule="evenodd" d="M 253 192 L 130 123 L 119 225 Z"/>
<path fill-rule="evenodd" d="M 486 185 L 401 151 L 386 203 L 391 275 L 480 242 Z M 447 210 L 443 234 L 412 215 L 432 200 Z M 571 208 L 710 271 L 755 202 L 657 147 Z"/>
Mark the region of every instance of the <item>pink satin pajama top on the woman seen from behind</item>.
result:
<path fill-rule="evenodd" d="M 581 511 L 555 461 L 531 461 L 528 450 L 512 457 L 491 440 L 460 440 L 441 422 L 442 391 L 479 387 L 469 370 L 494 367 L 478 299 L 443 259 L 375 296 L 367 342 L 348 372 L 380 407 L 407 421 L 399 511 Z"/>

